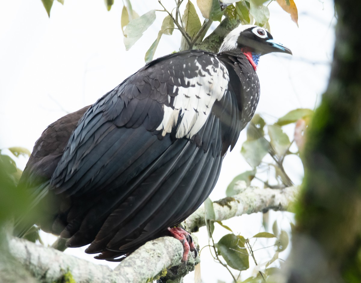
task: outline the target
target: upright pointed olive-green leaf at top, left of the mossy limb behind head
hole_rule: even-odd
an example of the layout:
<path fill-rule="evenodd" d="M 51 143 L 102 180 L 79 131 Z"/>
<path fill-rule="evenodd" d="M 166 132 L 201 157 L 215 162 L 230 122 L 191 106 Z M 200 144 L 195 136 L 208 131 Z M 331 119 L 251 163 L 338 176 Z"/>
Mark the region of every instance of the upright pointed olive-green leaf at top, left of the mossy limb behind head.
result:
<path fill-rule="evenodd" d="M 184 29 L 186 30 L 187 34 L 193 38 L 197 34 L 197 32 L 201 29 L 201 22 L 199 20 L 197 11 L 192 4 L 191 1 L 187 2 L 186 9 L 184 10 L 184 14 L 182 17 L 182 21 L 184 24 Z M 184 36 L 182 36 L 181 40 L 181 50 L 187 50 L 188 44 Z"/>

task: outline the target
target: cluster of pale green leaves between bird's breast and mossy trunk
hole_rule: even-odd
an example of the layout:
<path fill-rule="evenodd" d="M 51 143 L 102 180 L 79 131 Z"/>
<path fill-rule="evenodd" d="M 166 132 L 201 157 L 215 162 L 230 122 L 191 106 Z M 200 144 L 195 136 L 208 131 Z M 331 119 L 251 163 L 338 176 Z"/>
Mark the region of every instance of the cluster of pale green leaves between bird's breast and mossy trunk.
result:
<path fill-rule="evenodd" d="M 252 176 L 252 178 L 248 180 L 253 180 L 257 172 L 264 171 L 265 168 L 268 171 L 268 176 L 271 175 L 271 171 L 274 172 L 274 179 L 278 180 L 278 184 L 275 184 L 276 187 L 292 185 L 291 179 L 283 169 L 283 161 L 290 154 L 295 154 L 301 158 L 299 152 L 291 152 L 290 148 L 294 141 L 299 149 L 303 148 L 306 129 L 312 114 L 313 111 L 310 109 L 295 109 L 271 125 L 268 125 L 259 114 L 256 114 L 248 125 L 247 140 L 243 143 L 241 149 L 243 157 L 253 170 L 245 171 L 236 176 L 227 187 L 227 196 L 237 193 L 234 185 L 238 180 L 247 181 L 249 176 Z M 293 139 L 290 139 L 282 127 L 292 123 L 295 124 L 295 130 Z M 269 158 L 266 157 L 271 157 L 273 162 L 269 162 Z M 269 179 L 263 181 L 267 187 L 270 186 Z M 251 185 L 250 182 L 247 185 Z"/>

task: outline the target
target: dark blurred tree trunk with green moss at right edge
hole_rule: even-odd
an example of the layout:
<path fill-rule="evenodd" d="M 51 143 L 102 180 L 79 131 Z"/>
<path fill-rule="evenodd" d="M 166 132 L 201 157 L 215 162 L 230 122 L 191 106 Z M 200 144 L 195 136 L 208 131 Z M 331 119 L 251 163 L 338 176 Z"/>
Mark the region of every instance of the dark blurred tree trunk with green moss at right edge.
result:
<path fill-rule="evenodd" d="M 361 282 L 361 1 L 335 8 L 334 60 L 308 132 L 288 282 Z"/>

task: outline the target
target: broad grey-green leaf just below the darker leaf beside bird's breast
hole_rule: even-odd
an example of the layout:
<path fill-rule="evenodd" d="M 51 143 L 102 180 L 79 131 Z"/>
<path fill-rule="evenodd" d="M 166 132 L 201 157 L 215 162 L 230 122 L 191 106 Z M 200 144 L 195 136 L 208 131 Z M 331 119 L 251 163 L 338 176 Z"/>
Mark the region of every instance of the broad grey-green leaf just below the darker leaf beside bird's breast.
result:
<path fill-rule="evenodd" d="M 247 140 L 242 144 L 241 153 L 248 164 L 256 168 L 268 153 L 268 148 L 269 142 L 265 138 Z"/>

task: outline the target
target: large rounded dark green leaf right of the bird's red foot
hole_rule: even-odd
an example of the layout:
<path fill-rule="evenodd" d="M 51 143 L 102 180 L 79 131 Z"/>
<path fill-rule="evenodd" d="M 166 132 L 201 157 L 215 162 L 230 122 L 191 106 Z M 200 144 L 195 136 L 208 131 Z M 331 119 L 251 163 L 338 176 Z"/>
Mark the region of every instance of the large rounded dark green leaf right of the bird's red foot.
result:
<path fill-rule="evenodd" d="M 227 234 L 219 240 L 216 247 L 231 268 L 236 270 L 249 268 L 248 251 L 244 248 L 244 238 L 242 236 Z"/>

